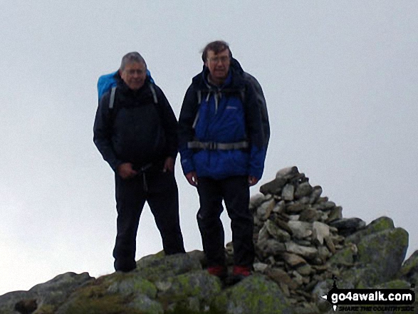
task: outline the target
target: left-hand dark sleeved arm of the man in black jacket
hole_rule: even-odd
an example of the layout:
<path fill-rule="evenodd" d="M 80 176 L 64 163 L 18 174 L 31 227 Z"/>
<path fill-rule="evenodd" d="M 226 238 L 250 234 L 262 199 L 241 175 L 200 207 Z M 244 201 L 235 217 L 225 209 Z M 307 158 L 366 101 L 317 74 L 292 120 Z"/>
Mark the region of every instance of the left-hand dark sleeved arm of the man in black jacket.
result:
<path fill-rule="evenodd" d="M 113 150 L 109 99 L 110 93 L 106 93 L 100 99 L 93 126 L 93 142 L 98 147 L 103 159 L 110 164 L 113 171 L 117 172 L 117 168 L 122 164 L 122 161 L 117 159 Z"/>

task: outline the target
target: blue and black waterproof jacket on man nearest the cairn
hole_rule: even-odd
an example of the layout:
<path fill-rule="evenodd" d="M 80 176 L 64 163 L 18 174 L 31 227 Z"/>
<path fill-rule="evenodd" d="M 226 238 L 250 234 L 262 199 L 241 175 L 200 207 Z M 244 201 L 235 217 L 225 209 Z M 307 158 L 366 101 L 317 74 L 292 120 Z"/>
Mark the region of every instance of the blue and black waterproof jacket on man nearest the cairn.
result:
<path fill-rule="evenodd" d="M 260 179 L 267 143 L 254 87 L 234 58 L 223 85 L 211 85 L 208 75 L 209 69 L 204 66 L 202 73 L 192 79 L 180 112 L 179 152 L 184 174 L 197 172 L 198 177 L 213 179 L 249 175 Z M 190 142 L 214 145 L 196 149 Z M 248 148 L 216 148 L 219 143 L 240 142 L 248 142 Z"/>

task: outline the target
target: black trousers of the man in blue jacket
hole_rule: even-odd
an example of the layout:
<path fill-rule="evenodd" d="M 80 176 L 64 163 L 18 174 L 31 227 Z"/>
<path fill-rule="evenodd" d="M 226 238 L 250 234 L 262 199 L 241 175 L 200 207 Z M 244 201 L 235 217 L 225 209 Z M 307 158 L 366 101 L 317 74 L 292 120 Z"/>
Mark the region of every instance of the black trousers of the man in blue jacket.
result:
<path fill-rule="evenodd" d="M 231 219 L 234 265 L 251 268 L 254 263 L 254 219 L 249 210 L 248 177 L 229 177 L 221 180 L 199 177 L 197 191 L 200 200 L 197 222 L 208 265 L 225 264 L 225 236 L 220 219 L 224 210 L 224 199 L 226 211 Z"/>

